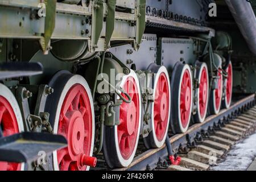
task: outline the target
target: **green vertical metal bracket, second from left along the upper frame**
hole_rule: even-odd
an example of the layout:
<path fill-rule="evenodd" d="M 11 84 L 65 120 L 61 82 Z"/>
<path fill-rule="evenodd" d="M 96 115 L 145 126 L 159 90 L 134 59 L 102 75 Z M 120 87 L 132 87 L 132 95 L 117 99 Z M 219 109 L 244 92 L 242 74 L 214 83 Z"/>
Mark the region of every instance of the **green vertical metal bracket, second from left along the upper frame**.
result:
<path fill-rule="evenodd" d="M 91 38 L 91 49 L 97 47 L 98 40 L 101 36 L 101 31 L 103 28 L 104 20 L 104 1 L 94 0 L 93 1 L 93 11 L 92 11 L 92 38 Z"/>

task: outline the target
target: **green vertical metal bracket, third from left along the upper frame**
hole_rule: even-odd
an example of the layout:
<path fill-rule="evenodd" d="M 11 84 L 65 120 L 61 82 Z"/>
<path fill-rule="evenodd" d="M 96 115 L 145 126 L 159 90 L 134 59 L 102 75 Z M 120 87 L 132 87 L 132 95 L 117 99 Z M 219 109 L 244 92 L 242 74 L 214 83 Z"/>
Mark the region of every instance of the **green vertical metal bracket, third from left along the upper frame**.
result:
<path fill-rule="evenodd" d="M 107 3 L 107 15 L 106 15 L 106 36 L 105 36 L 105 48 L 108 48 L 108 44 L 112 37 L 115 27 L 115 5 L 117 0 L 109 0 Z"/>

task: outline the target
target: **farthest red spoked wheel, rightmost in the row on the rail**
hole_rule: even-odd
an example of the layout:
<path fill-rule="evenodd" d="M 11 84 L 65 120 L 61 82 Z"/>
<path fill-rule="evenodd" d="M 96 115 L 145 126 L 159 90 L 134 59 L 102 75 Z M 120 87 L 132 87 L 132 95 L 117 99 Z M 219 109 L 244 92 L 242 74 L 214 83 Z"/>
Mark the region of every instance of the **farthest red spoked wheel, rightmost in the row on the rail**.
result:
<path fill-rule="evenodd" d="M 226 68 L 226 73 L 228 73 L 228 77 L 224 78 L 224 91 L 225 97 L 222 101 L 222 105 L 224 108 L 229 109 L 232 101 L 232 90 L 233 90 L 233 68 L 231 61 L 229 62 L 228 68 Z"/>

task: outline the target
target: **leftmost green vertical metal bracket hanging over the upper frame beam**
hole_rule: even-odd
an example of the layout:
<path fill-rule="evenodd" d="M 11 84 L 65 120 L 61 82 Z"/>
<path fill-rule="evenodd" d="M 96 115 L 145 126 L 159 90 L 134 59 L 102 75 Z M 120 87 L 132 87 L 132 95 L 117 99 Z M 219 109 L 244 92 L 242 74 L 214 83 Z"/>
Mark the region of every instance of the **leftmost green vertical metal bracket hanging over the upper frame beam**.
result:
<path fill-rule="evenodd" d="M 44 0 L 44 3 L 46 4 L 46 18 L 44 24 L 44 36 L 40 40 L 40 44 L 43 52 L 47 53 L 48 45 L 55 28 L 56 0 Z"/>

